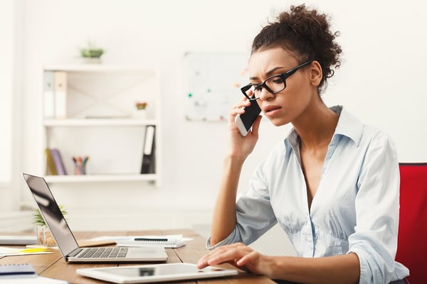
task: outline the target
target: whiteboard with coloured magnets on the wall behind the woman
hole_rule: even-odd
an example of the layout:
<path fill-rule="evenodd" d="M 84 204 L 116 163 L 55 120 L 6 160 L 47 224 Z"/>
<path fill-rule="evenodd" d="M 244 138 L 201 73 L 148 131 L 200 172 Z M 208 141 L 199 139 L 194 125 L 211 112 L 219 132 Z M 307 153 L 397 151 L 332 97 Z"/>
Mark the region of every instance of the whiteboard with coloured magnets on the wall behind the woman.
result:
<path fill-rule="evenodd" d="M 186 53 L 186 119 L 225 121 L 249 82 L 248 59 L 247 53 Z"/>

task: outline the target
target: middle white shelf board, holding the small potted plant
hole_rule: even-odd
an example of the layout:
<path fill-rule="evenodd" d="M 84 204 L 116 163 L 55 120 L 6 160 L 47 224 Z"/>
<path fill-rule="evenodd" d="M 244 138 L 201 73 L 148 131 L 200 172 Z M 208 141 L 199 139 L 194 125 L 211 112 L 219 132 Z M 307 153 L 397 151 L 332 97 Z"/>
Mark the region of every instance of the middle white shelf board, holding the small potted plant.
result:
<path fill-rule="evenodd" d="M 45 119 L 44 126 L 145 126 L 157 125 L 156 119 Z"/>

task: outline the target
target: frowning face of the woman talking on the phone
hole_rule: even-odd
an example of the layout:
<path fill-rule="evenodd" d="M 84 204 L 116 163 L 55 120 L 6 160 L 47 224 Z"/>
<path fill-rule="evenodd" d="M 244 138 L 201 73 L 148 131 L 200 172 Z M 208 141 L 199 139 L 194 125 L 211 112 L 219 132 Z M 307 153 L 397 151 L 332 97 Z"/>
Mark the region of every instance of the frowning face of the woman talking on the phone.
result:
<path fill-rule="evenodd" d="M 283 48 L 260 50 L 251 55 L 249 76 L 251 83 L 260 84 L 273 75 L 291 70 L 298 62 Z M 297 120 L 317 94 L 317 87 L 310 80 L 310 64 L 300 68 L 286 79 L 286 87 L 276 94 L 263 88 L 258 104 L 265 116 L 275 126 L 282 126 Z"/>

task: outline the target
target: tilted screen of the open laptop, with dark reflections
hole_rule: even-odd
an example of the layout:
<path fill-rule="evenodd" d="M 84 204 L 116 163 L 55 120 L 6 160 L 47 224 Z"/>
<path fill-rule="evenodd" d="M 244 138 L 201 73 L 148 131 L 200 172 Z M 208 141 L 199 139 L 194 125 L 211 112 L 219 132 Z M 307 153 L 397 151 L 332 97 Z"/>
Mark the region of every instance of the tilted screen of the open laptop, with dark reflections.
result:
<path fill-rule="evenodd" d="M 34 200 L 40 209 L 41 215 L 52 232 L 56 244 L 63 254 L 68 256 L 72 251 L 78 249 L 77 241 L 73 236 L 63 214 L 60 212 L 58 204 L 53 198 L 52 192 L 46 183 L 46 180 L 34 175 L 23 173 L 28 187 L 33 194 Z"/>

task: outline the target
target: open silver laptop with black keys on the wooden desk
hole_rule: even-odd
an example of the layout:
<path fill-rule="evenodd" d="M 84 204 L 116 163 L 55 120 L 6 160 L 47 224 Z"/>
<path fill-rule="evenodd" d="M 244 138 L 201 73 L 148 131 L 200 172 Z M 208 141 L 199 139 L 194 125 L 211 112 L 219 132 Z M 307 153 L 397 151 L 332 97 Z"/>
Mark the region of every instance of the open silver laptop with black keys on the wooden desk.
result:
<path fill-rule="evenodd" d="M 28 187 L 36 200 L 38 209 L 51 230 L 65 261 L 69 263 L 125 263 L 125 262 L 163 262 L 167 261 L 164 248 L 143 247 L 99 247 L 81 248 L 68 226 L 51 189 L 44 178 L 23 173 Z"/>

